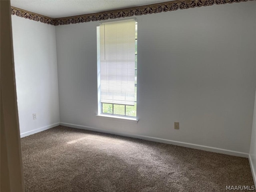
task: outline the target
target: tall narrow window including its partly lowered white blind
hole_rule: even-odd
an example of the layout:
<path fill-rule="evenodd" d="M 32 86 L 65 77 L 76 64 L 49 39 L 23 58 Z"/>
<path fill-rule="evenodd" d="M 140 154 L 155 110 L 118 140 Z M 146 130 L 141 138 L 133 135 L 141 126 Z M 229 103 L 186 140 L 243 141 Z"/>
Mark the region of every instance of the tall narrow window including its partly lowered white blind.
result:
<path fill-rule="evenodd" d="M 98 114 L 136 118 L 137 22 L 106 22 L 97 27 Z"/>

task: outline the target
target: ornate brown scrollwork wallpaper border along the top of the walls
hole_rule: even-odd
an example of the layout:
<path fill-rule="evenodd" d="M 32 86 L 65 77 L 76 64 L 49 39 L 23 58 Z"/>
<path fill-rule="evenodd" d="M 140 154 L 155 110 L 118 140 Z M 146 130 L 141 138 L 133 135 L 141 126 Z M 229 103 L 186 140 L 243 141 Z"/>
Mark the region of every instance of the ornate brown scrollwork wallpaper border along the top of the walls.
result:
<path fill-rule="evenodd" d="M 58 26 L 58 25 L 68 25 L 75 23 L 83 23 L 90 21 L 101 21 L 107 19 L 124 18 L 138 15 L 146 15 L 152 13 L 161 13 L 167 11 L 174 11 L 178 9 L 188 9 L 202 6 L 220 5 L 227 3 L 238 3 L 254 0 L 175 0 L 170 2 L 151 4 L 146 6 L 127 8 L 122 10 L 113 10 L 107 12 L 100 12 L 94 14 L 85 14 L 78 16 L 71 16 L 65 18 L 50 18 L 43 15 L 39 15 L 33 12 L 22 10 L 19 8 L 11 7 L 11 14 L 19 17 L 27 18 L 34 21 L 40 21 L 42 23 Z"/>

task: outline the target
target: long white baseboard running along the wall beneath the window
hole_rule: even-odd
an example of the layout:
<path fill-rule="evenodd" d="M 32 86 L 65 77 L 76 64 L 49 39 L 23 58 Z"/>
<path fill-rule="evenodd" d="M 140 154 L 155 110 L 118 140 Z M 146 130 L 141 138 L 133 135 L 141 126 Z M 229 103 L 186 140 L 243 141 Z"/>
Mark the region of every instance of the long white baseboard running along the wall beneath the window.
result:
<path fill-rule="evenodd" d="M 78 128 L 78 129 L 85 129 L 85 130 L 115 134 L 115 135 L 120 135 L 120 136 L 138 138 L 138 139 L 143 139 L 143 140 L 148 140 L 148 141 L 172 144 L 172 145 L 177 145 L 177 146 L 182 146 L 182 147 L 188 147 L 188 148 L 194 148 L 194 149 L 199 149 L 199 150 L 204 150 L 204 151 L 210 151 L 210 152 L 216 152 L 216 153 L 222 153 L 222 154 L 227 154 L 227 155 L 233 155 L 233 156 L 248 158 L 248 153 L 244 153 L 244 152 L 226 150 L 226 149 L 203 146 L 203 145 L 192 144 L 192 143 L 185 143 L 185 142 L 180 142 L 180 141 L 173 141 L 173 140 L 168 140 L 168 139 L 161 139 L 161 138 L 150 137 L 150 136 L 143 136 L 143 135 L 136 135 L 136 134 L 125 134 L 125 133 L 120 133 L 120 132 L 104 130 L 104 129 L 100 129 L 100 128 L 93 128 L 93 127 L 70 124 L 70 123 L 64 123 L 64 122 L 60 122 L 60 125 L 67 126 L 67 127 L 72 127 L 72 128 Z"/>

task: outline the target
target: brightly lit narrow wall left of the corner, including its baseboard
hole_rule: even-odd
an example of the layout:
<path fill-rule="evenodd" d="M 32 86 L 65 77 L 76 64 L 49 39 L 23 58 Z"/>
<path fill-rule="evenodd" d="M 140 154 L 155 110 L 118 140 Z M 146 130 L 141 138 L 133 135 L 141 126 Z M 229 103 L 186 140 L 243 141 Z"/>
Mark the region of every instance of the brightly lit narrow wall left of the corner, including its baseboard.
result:
<path fill-rule="evenodd" d="M 55 26 L 12 16 L 12 36 L 20 134 L 27 136 L 60 122 Z"/>

